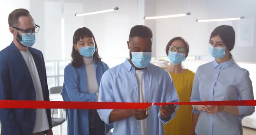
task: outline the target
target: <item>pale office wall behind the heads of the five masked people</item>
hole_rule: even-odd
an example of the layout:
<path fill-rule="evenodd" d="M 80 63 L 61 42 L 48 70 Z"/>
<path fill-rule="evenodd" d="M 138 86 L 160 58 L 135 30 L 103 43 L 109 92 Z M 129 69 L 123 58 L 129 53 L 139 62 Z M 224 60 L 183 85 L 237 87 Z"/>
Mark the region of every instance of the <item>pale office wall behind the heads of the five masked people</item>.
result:
<path fill-rule="evenodd" d="M 111 9 L 119 10 L 91 16 L 75 17 L 75 13 Z M 228 24 L 236 31 L 232 53 L 236 61 L 256 62 L 256 1 L 255 0 L 9 0 L 1 2 L 0 50 L 10 45 L 8 15 L 16 8 L 30 10 L 36 24 L 35 48 L 43 51 L 46 60 L 70 59 L 72 36 L 83 26 L 92 30 L 102 58 L 128 57 L 126 41 L 132 26 L 144 24 L 153 31 L 153 57 L 165 57 L 167 42 L 183 36 L 190 44 L 190 54 L 203 60 L 212 59 L 208 52 L 210 32 Z M 143 13 L 144 10 L 144 13 Z M 161 16 L 190 12 L 190 16 L 143 20 L 144 16 Z M 197 23 L 196 19 L 245 16 L 225 22 Z"/>

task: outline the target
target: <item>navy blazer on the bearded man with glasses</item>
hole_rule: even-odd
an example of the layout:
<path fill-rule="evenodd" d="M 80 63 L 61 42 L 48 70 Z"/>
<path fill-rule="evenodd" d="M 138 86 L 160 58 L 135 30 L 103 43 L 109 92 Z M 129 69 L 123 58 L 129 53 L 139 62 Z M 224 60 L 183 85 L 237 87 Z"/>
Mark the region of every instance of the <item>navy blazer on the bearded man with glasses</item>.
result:
<path fill-rule="evenodd" d="M 49 101 L 46 68 L 41 51 L 30 48 L 39 74 L 45 101 Z M 12 42 L 0 51 L 0 100 L 36 100 L 30 71 L 18 48 Z M 10 105 L 11 106 L 11 105 Z M 46 109 L 52 129 L 50 109 Z M 32 135 L 36 109 L 0 109 L 1 135 Z"/>

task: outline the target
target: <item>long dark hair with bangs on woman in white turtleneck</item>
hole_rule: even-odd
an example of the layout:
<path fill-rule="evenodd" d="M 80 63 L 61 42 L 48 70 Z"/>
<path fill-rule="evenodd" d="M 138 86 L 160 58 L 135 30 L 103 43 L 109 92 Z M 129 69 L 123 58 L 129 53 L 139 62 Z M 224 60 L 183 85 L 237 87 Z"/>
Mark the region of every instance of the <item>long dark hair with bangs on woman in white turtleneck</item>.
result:
<path fill-rule="evenodd" d="M 76 44 L 80 39 L 84 39 L 84 37 L 89 37 L 94 40 L 95 43 L 95 52 L 93 54 L 93 58 L 96 59 L 97 62 L 101 61 L 101 57 L 98 55 L 98 47 L 97 43 L 95 41 L 94 35 L 92 34 L 92 31 L 88 28 L 82 27 L 75 31 L 73 35 L 73 44 Z M 72 66 L 74 67 L 81 67 L 83 65 L 83 58 L 82 55 L 79 54 L 79 51 L 76 51 L 74 46 L 72 45 Z"/>

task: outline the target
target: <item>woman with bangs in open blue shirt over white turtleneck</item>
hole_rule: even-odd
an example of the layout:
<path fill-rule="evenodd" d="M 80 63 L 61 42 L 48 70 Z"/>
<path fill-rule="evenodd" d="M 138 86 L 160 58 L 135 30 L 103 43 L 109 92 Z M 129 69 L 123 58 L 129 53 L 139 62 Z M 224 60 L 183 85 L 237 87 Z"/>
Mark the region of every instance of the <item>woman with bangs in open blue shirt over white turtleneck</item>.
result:
<path fill-rule="evenodd" d="M 101 61 L 92 32 L 83 27 L 73 36 L 72 61 L 64 70 L 64 101 L 98 102 L 98 87 L 108 65 Z M 109 126 L 96 109 L 66 109 L 68 135 L 105 135 Z M 106 129 L 105 129 L 106 127 Z"/>

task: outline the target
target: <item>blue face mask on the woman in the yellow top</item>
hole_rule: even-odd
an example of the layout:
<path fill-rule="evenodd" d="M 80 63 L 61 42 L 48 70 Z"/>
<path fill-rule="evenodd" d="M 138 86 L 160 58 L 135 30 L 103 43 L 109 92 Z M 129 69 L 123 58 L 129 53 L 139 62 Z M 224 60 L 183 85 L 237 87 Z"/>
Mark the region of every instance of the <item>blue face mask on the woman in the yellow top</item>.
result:
<path fill-rule="evenodd" d="M 185 61 L 185 55 L 180 52 L 169 51 L 168 58 L 174 65 L 180 64 L 182 61 Z"/>

